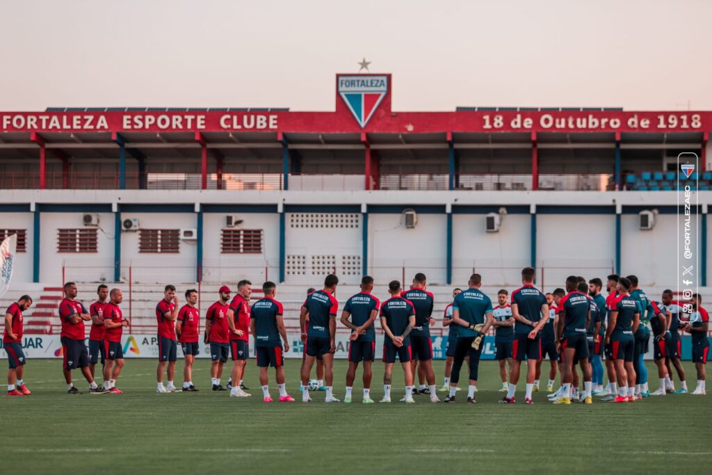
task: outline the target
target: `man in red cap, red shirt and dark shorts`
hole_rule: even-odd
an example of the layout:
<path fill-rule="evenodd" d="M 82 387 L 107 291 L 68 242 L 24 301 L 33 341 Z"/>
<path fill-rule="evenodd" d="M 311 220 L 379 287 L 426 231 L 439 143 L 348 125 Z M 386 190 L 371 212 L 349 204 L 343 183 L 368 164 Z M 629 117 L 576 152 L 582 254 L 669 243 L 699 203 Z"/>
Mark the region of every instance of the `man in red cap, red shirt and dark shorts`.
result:
<path fill-rule="evenodd" d="M 230 288 L 222 286 L 219 289 L 220 300 L 213 303 L 206 313 L 205 333 L 207 341 L 210 343 L 210 377 L 213 383 L 213 391 L 224 391 L 220 384 L 223 365 L 230 354 L 230 326 L 227 320 L 227 313 L 230 310 Z"/>

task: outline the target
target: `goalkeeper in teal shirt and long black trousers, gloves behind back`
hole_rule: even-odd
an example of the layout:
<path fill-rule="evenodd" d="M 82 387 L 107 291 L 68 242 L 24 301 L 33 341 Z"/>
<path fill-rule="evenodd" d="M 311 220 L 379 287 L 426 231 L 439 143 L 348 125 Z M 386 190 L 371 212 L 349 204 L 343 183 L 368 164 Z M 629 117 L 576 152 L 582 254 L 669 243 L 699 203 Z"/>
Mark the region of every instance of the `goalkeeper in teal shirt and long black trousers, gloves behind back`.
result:
<path fill-rule="evenodd" d="M 457 383 L 460 380 L 460 368 L 465 357 L 469 355 L 470 377 L 467 387 L 467 402 L 473 404 L 476 402 L 475 390 L 483 346 L 481 340 L 494 323 L 494 316 L 492 315 L 492 301 L 480 291 L 482 276 L 473 273 L 467 285 L 468 288 L 459 293 L 452 304 L 452 321 L 455 325 L 459 325 L 459 328 L 457 329 L 455 359 L 450 375 L 450 394 L 445 398 L 445 402 L 455 402 Z M 473 348 L 473 343 L 478 339 L 479 345 L 475 344 L 477 348 Z"/>

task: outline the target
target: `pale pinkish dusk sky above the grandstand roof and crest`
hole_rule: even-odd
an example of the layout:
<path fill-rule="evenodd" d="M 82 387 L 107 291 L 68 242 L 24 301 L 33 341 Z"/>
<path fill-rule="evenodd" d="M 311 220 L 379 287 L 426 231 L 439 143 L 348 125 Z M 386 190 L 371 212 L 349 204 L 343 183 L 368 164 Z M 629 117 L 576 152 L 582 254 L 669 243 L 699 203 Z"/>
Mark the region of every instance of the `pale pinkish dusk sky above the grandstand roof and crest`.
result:
<path fill-rule="evenodd" d="M 6 111 L 333 110 L 363 56 L 394 110 L 712 109 L 708 0 L 0 1 Z"/>

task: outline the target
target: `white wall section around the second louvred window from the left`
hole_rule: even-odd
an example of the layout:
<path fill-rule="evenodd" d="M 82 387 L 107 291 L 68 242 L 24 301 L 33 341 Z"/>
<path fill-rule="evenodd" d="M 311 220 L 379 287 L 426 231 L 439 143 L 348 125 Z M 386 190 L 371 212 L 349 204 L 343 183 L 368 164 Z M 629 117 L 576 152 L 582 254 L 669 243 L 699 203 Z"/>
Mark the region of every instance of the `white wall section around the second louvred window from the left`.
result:
<path fill-rule="evenodd" d="M 114 214 L 98 213 L 97 252 L 57 252 L 58 229 L 84 228 L 84 213 L 40 214 L 40 281 L 61 283 L 62 266 L 66 265 L 66 280 L 80 273 L 85 279 L 113 280 L 114 272 Z"/>

